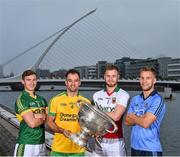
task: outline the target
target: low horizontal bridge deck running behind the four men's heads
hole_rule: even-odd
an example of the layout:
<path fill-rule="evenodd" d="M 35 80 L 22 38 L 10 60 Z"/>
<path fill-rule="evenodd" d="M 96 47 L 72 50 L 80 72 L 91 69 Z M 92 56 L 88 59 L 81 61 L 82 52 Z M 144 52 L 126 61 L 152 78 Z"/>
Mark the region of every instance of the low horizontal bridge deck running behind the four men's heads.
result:
<path fill-rule="evenodd" d="M 38 88 L 43 85 L 58 85 L 65 86 L 64 79 L 39 79 Z M 139 80 L 119 80 L 119 85 L 123 88 L 128 88 L 131 90 L 139 89 Z M 13 90 L 22 89 L 20 79 L 0 79 L 0 86 L 9 86 Z M 180 90 L 180 82 L 177 81 L 157 81 L 156 86 L 161 88 L 171 87 L 173 90 Z M 82 79 L 81 87 L 88 88 L 102 88 L 104 87 L 104 80 L 90 80 Z"/>

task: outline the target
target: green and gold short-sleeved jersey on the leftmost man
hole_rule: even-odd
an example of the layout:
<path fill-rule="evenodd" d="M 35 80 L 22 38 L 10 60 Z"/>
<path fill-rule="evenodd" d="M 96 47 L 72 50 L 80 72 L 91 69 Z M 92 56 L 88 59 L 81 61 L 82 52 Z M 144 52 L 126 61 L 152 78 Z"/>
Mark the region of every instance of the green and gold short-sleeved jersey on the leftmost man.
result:
<path fill-rule="evenodd" d="M 44 124 L 36 128 L 30 128 L 22 116 L 29 111 L 32 111 L 34 114 L 45 114 L 46 107 L 47 102 L 43 97 L 36 95 L 33 98 L 28 92 L 21 92 L 15 102 L 15 112 L 20 122 L 19 135 L 17 138 L 18 144 L 42 144 L 45 142 Z"/>

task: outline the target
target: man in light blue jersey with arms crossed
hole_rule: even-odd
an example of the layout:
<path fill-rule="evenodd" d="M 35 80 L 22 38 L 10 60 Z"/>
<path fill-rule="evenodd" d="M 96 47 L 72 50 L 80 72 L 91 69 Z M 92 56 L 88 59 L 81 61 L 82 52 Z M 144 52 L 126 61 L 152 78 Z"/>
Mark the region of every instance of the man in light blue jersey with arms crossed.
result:
<path fill-rule="evenodd" d="M 132 126 L 132 156 L 162 156 L 159 134 L 166 107 L 163 98 L 154 89 L 155 83 L 155 70 L 149 67 L 142 68 L 142 93 L 132 98 L 125 119 L 125 124 Z"/>

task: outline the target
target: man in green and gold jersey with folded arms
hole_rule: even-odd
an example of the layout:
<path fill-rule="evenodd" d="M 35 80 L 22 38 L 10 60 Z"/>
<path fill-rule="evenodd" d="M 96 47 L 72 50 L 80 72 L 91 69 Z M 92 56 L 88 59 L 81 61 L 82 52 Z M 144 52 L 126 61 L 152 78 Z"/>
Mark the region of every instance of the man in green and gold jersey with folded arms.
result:
<path fill-rule="evenodd" d="M 22 74 L 24 91 L 15 102 L 16 116 L 20 122 L 14 156 L 45 156 L 46 100 L 35 93 L 37 75 L 32 70 Z"/>

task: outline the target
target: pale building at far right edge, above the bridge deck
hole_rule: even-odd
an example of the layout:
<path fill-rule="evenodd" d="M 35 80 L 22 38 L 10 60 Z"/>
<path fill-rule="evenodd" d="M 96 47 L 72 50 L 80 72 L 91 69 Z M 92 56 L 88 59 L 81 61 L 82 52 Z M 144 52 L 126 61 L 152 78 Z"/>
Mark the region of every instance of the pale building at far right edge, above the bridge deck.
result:
<path fill-rule="evenodd" d="M 172 59 L 168 64 L 168 79 L 180 80 L 180 58 Z"/>

